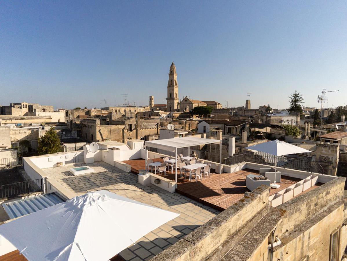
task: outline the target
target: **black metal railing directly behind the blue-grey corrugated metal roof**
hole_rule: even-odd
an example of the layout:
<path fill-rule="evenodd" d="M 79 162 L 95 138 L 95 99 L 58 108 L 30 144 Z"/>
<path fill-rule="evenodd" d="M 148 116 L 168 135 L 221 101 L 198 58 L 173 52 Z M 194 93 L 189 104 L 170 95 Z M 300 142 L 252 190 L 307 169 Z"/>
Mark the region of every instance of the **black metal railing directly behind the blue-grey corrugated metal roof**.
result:
<path fill-rule="evenodd" d="M 0 186 L 0 195 L 1 198 L 12 198 L 35 191 L 42 191 L 42 187 L 42 179 L 11 183 Z"/>

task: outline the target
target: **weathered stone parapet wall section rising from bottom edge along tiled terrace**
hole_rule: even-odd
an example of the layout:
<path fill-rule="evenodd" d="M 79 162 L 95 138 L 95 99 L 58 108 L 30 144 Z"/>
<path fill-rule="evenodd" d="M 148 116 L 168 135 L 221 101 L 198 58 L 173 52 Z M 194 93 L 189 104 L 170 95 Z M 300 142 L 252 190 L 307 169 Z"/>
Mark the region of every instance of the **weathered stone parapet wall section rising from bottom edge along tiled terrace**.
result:
<path fill-rule="evenodd" d="M 177 243 L 156 255 L 152 261 L 194 261 L 204 260 L 227 238 L 251 220 L 254 215 L 268 207 L 269 188 L 258 187 L 237 203 L 222 211 Z"/>

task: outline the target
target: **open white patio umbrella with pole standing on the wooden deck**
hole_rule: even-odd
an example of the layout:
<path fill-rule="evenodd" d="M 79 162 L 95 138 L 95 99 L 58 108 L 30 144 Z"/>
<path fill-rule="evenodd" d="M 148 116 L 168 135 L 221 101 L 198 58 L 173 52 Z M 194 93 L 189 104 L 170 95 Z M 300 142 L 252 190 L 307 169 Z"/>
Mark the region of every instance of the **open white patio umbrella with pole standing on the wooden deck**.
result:
<path fill-rule="evenodd" d="M 292 144 L 289 144 L 287 142 L 280 141 L 280 140 L 272 140 L 269 142 L 264 142 L 264 143 L 257 144 L 254 146 L 246 147 L 245 149 L 252 149 L 252 150 L 256 150 L 259 152 L 265 152 L 265 153 L 276 156 L 274 187 L 278 186 L 278 185 L 276 185 L 276 171 L 277 171 L 277 157 L 278 156 L 311 152 L 310 150 L 303 149 L 301 147 L 298 147 L 298 146 L 295 146 L 295 145 L 292 145 Z"/>

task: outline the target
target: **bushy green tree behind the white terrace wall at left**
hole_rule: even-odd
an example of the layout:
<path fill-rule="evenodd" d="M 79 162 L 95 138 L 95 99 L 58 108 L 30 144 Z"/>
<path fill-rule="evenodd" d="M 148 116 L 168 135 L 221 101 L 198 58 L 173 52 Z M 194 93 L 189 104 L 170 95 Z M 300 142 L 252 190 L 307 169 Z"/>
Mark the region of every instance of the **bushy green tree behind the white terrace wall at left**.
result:
<path fill-rule="evenodd" d="M 39 155 L 61 152 L 60 139 L 54 128 L 46 131 L 44 136 L 39 138 L 37 153 Z"/>

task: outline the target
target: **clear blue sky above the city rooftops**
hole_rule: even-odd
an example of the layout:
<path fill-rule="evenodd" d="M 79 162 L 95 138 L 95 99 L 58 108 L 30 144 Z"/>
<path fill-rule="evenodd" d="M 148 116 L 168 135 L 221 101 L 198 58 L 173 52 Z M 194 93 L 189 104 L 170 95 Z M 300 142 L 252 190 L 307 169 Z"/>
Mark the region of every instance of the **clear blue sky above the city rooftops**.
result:
<path fill-rule="evenodd" d="M 1 105 L 166 103 L 172 60 L 180 99 L 345 105 L 347 2 L 0 1 Z"/>

